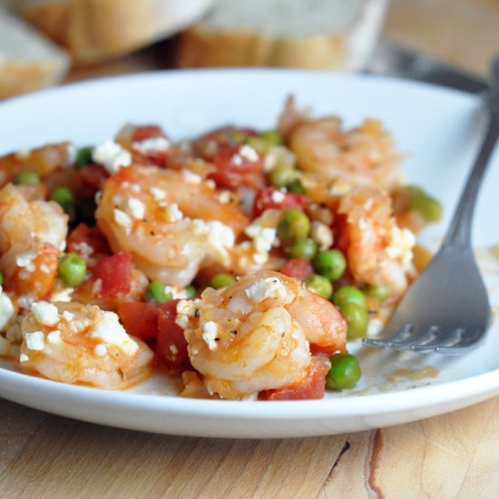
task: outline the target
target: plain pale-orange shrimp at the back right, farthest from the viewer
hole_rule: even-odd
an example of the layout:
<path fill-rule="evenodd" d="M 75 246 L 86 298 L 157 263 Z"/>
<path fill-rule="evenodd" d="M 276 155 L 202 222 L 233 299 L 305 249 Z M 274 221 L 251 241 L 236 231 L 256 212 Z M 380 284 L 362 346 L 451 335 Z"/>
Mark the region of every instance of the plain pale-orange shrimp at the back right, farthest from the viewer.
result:
<path fill-rule="evenodd" d="M 300 170 L 326 181 L 388 185 L 398 161 L 391 135 L 372 119 L 345 131 L 335 116 L 301 121 L 298 116 L 289 127 L 287 143 Z"/>

